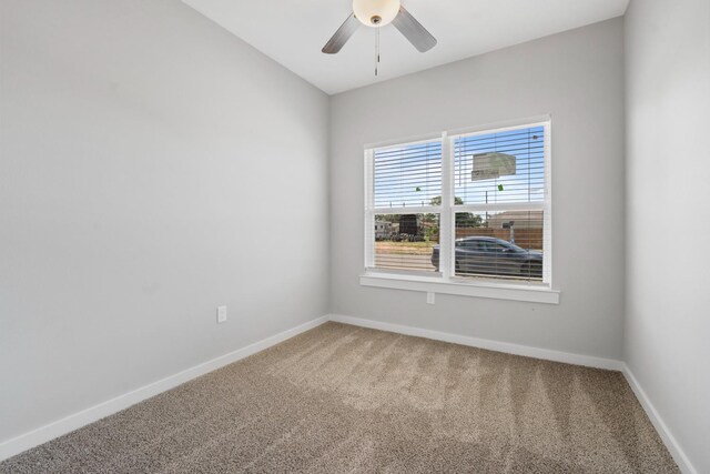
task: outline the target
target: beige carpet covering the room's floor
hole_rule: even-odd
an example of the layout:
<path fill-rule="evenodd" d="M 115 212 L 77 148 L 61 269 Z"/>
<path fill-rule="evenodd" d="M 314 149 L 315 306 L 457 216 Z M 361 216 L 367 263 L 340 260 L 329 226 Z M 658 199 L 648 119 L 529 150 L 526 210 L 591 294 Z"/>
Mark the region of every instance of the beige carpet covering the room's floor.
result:
<path fill-rule="evenodd" d="M 0 472 L 678 468 L 618 372 L 327 323 Z"/>

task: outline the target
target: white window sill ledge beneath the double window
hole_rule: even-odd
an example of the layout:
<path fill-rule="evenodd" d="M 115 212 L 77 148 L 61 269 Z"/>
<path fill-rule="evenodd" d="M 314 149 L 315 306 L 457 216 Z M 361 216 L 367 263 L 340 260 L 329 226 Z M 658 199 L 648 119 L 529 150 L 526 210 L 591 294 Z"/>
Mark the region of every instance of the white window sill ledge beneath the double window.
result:
<path fill-rule="evenodd" d="M 388 288 L 393 290 L 559 304 L 559 291 L 540 284 L 468 282 L 465 280 L 445 281 L 440 278 L 376 272 L 366 272 L 361 275 L 359 284 L 362 286 Z"/>

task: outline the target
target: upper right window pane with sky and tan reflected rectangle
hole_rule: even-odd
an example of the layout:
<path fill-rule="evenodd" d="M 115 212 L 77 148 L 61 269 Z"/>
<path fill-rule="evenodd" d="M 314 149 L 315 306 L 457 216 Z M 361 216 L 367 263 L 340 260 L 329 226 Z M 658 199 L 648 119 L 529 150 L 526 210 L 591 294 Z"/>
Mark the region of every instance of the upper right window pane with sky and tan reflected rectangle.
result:
<path fill-rule="evenodd" d="M 456 204 L 545 201 L 545 128 L 454 141 Z"/>

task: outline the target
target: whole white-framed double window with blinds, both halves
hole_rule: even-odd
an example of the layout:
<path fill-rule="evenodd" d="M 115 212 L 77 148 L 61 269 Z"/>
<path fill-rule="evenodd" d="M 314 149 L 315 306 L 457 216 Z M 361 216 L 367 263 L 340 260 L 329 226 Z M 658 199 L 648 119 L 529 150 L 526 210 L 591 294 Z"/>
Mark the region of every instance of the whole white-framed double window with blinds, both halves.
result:
<path fill-rule="evenodd" d="M 551 289 L 549 130 L 546 118 L 367 149 L 365 276 Z"/>

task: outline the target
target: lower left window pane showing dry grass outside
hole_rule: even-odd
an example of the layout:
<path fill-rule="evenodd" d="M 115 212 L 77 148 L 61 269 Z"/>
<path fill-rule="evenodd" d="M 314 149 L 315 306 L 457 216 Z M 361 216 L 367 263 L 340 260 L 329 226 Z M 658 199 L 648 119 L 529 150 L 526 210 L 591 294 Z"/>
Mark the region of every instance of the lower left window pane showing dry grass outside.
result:
<path fill-rule="evenodd" d="M 439 214 L 376 214 L 375 268 L 437 271 Z"/>

